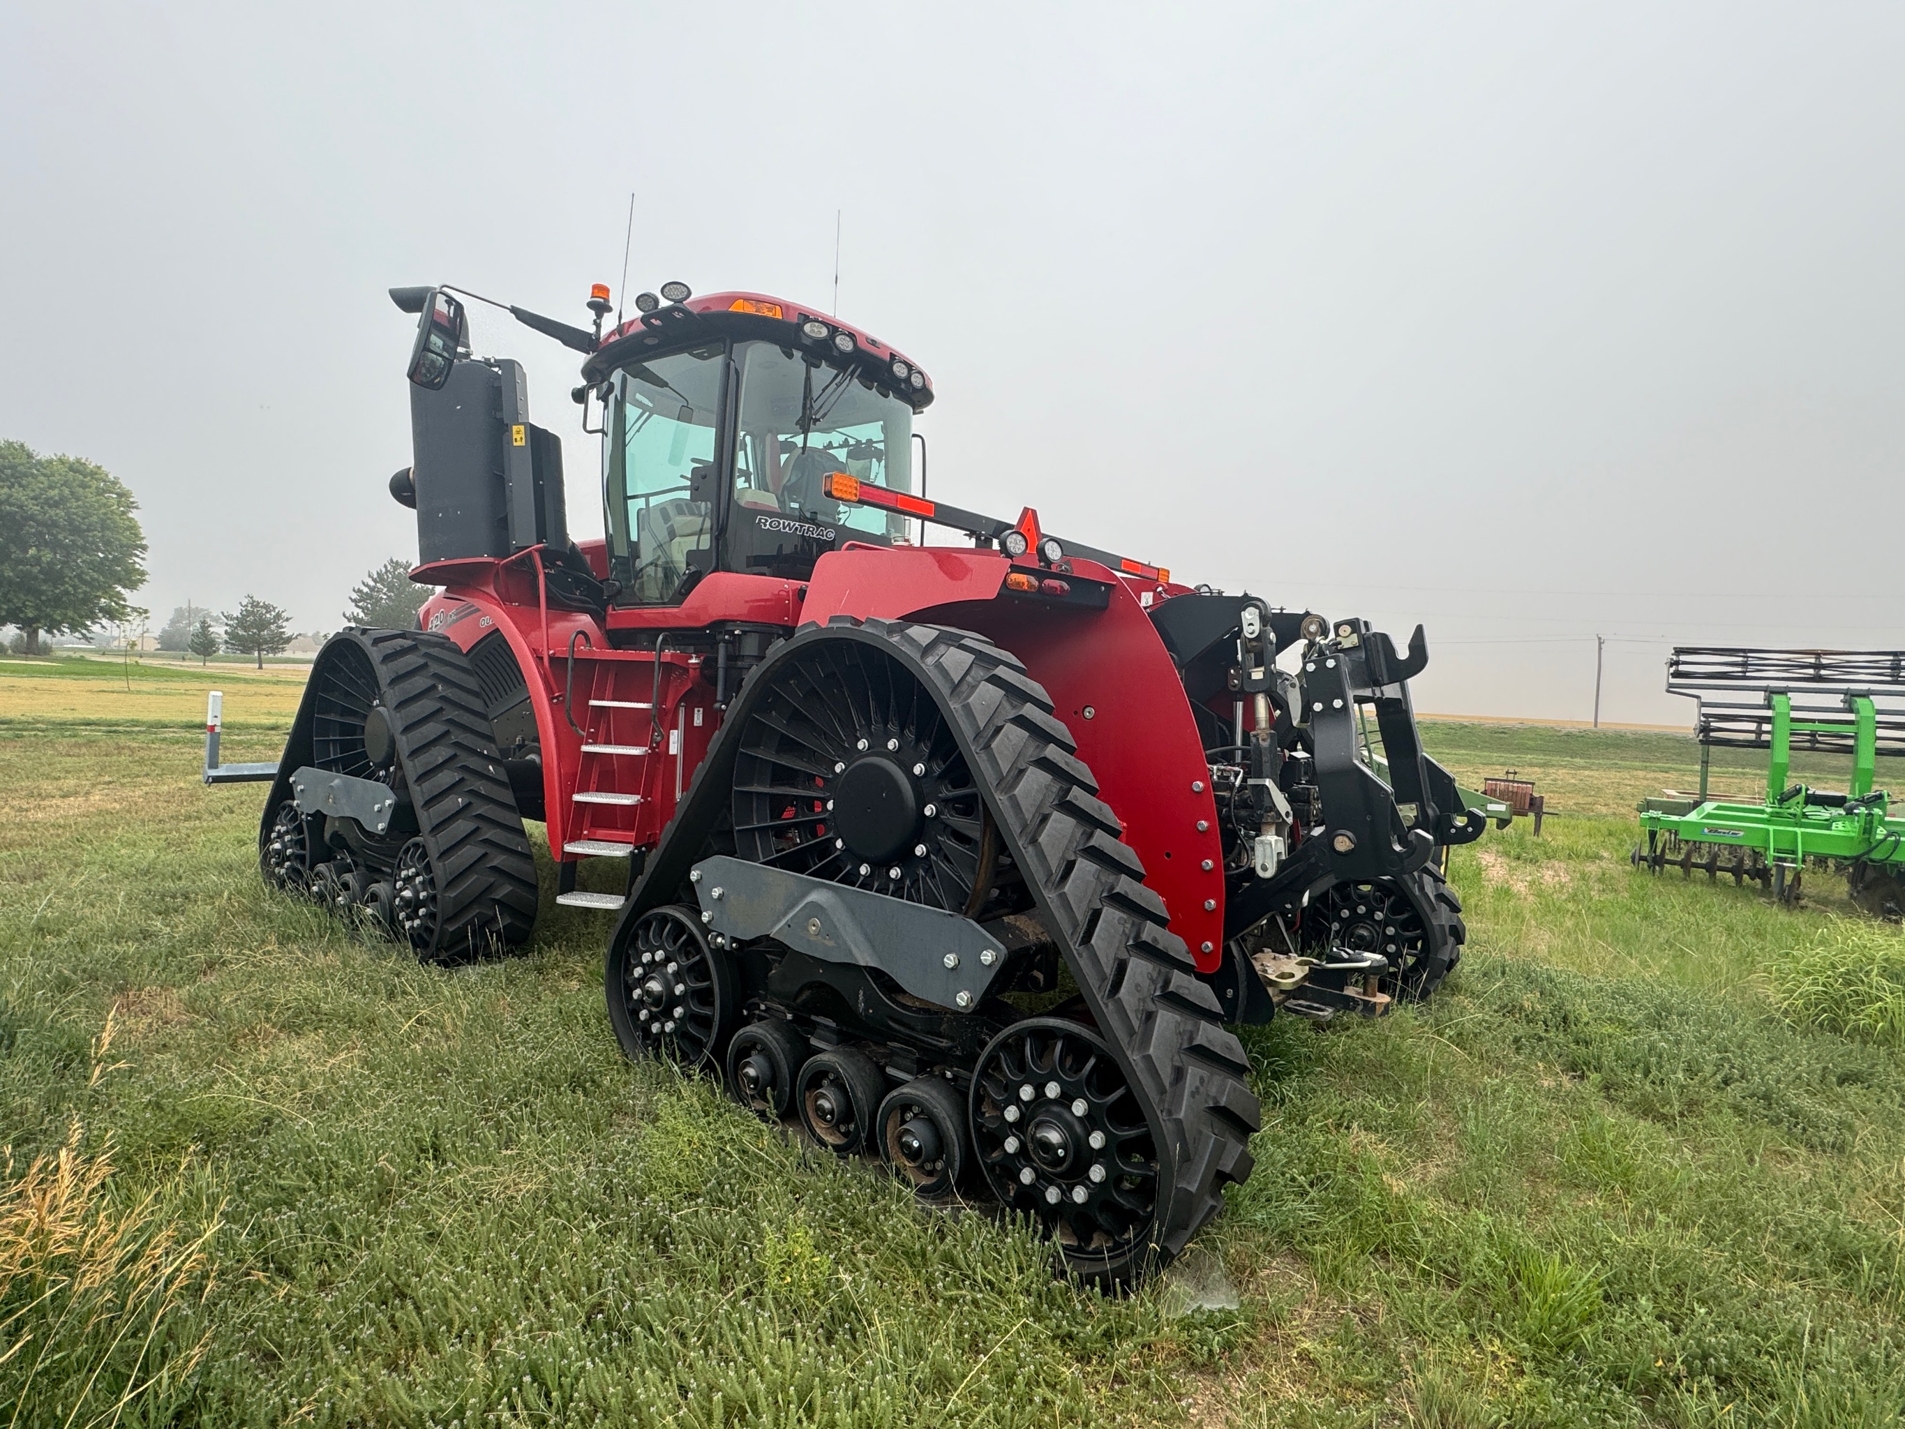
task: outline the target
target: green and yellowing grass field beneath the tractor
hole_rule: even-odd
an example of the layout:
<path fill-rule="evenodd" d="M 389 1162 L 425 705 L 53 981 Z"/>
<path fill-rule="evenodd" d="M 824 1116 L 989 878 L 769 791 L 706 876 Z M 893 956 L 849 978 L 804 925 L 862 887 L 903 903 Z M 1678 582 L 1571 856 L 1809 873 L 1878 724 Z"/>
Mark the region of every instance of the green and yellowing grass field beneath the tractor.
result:
<path fill-rule="evenodd" d="M 1248 1035 L 1255 1176 L 1105 1301 L 625 1063 L 602 915 L 442 972 L 267 894 L 198 724 L 272 758 L 301 673 L 95 665 L 0 663 L 0 1421 L 1905 1416 L 1905 939 L 1633 873 L 1686 739 L 1427 726 L 1556 815 L 1457 850 L 1431 1008 Z"/>

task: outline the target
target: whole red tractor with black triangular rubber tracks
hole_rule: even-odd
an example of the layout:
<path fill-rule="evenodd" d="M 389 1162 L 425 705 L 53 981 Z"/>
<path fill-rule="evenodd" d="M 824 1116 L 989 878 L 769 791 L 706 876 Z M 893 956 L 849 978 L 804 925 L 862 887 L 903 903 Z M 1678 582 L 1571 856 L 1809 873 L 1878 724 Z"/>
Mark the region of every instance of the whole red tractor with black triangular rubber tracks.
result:
<path fill-rule="evenodd" d="M 1379 1012 L 1455 962 L 1434 859 L 1482 821 L 1417 743 L 1421 629 L 930 501 L 912 358 L 680 284 L 608 333 L 606 288 L 592 332 L 512 309 L 585 354 L 608 535 L 575 543 L 522 368 L 471 356 L 455 290 L 392 297 L 421 320 L 391 490 L 444 589 L 318 654 L 251 774 L 272 882 L 467 958 L 530 937 L 541 821 L 556 901 L 615 915 L 629 1056 L 922 1197 L 989 1189 L 1101 1284 L 1250 1174 L 1227 1023 Z"/>

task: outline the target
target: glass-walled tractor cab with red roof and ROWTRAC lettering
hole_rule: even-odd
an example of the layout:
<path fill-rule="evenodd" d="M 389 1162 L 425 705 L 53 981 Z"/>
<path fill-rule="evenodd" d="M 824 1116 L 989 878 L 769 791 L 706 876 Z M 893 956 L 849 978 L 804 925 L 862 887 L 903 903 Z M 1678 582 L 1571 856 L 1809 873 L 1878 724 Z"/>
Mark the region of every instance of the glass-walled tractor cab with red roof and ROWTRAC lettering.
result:
<path fill-rule="evenodd" d="M 722 293 L 627 324 L 583 372 L 604 404 L 615 604 L 676 604 L 716 570 L 808 579 L 848 541 L 905 539 L 905 516 L 827 493 L 834 473 L 914 492 L 932 389 L 882 343 Z"/>

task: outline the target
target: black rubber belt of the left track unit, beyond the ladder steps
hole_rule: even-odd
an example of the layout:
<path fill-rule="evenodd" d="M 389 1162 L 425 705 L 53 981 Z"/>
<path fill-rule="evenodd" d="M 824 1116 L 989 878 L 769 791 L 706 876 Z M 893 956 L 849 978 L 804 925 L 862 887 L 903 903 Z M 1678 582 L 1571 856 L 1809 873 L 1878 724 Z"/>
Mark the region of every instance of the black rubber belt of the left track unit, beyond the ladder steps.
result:
<path fill-rule="evenodd" d="M 318 661 L 345 640 L 370 655 L 419 836 L 431 854 L 438 924 L 436 937 L 417 956 L 457 962 L 528 941 L 535 928 L 535 857 L 469 657 L 442 634 L 345 629 L 326 642 Z M 312 762 L 314 692 L 316 678 L 291 726 L 267 819 L 290 796 L 291 772 Z"/>

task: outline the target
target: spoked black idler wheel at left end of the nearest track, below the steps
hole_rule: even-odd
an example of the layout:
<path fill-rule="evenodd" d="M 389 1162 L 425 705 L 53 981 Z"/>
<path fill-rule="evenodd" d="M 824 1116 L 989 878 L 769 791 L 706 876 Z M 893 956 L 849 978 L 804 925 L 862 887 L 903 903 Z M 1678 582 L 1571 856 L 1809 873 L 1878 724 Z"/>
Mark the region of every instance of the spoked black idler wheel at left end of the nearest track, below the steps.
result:
<path fill-rule="evenodd" d="M 718 1069 L 733 1025 L 733 972 L 701 920 L 665 903 L 644 913 L 610 956 L 610 1012 L 631 1057 Z"/>

